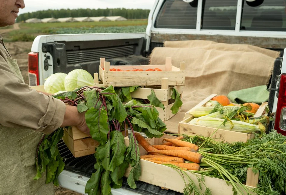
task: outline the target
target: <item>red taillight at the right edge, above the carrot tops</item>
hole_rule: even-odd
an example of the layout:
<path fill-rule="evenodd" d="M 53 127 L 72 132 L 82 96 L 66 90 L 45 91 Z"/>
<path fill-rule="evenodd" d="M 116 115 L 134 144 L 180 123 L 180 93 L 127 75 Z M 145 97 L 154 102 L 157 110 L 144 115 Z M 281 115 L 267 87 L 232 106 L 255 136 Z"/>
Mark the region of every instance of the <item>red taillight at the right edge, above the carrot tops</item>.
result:
<path fill-rule="evenodd" d="M 286 135 L 286 75 L 281 75 L 274 129 Z"/>

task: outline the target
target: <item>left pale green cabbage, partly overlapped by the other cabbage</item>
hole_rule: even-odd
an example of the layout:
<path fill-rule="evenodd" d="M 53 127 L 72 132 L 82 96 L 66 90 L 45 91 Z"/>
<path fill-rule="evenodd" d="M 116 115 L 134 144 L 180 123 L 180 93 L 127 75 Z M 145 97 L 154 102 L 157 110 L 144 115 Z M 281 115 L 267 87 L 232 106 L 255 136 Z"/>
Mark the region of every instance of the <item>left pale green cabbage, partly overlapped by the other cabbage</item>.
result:
<path fill-rule="evenodd" d="M 45 91 L 47 93 L 54 94 L 58 91 L 64 90 L 64 78 L 67 76 L 67 74 L 58 72 L 55 74 L 50 75 L 44 84 Z"/>

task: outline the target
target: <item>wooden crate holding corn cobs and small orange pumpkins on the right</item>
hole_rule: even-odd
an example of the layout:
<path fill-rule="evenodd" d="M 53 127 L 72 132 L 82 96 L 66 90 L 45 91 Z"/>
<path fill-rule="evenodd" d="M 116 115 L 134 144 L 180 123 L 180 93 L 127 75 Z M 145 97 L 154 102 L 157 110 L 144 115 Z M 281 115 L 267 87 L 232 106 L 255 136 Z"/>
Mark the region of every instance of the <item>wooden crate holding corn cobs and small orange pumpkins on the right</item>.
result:
<path fill-rule="evenodd" d="M 217 94 L 211 94 L 209 97 L 201 101 L 195 107 L 204 106 L 209 100 L 215 97 Z M 267 102 L 262 103 L 254 117 L 259 117 L 265 110 Z M 184 120 L 179 123 L 178 134 L 186 134 L 186 135 L 201 135 L 201 136 L 211 136 L 212 133 L 216 130 L 216 128 L 200 126 L 190 124 L 189 122 L 193 120 L 194 117 L 187 112 L 185 114 Z M 247 142 L 248 139 L 253 138 L 253 133 L 241 133 L 235 132 L 231 130 L 218 129 L 216 133 L 212 136 L 212 138 L 217 138 L 219 141 L 223 142 Z"/>

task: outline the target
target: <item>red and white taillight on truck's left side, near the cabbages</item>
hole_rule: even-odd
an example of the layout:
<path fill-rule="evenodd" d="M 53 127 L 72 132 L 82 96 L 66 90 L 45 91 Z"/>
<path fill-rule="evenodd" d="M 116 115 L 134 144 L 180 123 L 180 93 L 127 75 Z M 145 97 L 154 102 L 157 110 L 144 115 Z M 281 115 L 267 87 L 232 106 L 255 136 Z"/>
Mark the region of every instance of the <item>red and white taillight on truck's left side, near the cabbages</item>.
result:
<path fill-rule="evenodd" d="M 29 85 L 39 85 L 39 53 L 30 52 L 28 59 Z"/>

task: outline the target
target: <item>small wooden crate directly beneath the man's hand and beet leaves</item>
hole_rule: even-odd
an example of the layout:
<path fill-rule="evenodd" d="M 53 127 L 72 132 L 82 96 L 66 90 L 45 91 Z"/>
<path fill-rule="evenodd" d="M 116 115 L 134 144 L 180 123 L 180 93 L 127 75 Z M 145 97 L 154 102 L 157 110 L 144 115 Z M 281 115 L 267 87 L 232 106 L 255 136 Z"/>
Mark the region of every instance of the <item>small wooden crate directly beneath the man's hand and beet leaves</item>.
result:
<path fill-rule="evenodd" d="M 74 157 L 77 158 L 81 156 L 94 154 L 95 149 L 99 146 L 99 142 L 92 139 L 90 136 L 86 134 L 85 136 L 81 135 L 82 132 L 80 132 L 80 130 L 78 129 L 75 130 L 76 127 L 72 128 L 74 129 L 74 131 L 70 130 L 68 132 L 68 129 L 64 129 L 64 136 L 62 139 L 64 140 L 64 143 L 68 146 L 68 149 L 71 151 Z M 71 134 L 72 132 L 74 134 Z M 84 137 L 84 138 L 75 139 L 78 137 Z"/>

